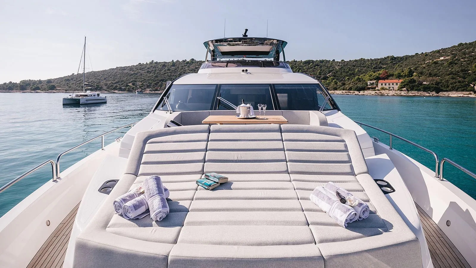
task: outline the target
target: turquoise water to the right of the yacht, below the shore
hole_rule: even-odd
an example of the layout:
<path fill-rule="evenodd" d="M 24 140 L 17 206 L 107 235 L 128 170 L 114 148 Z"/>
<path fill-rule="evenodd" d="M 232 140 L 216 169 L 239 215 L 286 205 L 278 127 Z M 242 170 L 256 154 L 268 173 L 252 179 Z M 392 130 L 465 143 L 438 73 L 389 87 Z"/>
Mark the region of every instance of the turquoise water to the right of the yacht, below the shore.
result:
<path fill-rule="evenodd" d="M 397 134 L 476 173 L 476 98 L 333 95 L 349 118 Z M 388 144 L 388 134 L 364 126 Z M 433 155 L 392 139 L 393 148 L 435 170 Z M 445 179 L 476 198 L 476 180 L 451 164 Z"/>

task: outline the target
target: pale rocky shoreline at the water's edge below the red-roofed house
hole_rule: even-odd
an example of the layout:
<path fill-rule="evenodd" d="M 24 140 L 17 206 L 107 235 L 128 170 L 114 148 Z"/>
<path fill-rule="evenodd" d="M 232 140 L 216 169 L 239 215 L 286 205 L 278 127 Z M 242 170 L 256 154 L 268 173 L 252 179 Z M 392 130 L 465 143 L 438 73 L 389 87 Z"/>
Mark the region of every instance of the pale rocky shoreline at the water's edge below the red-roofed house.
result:
<path fill-rule="evenodd" d="M 433 97 L 476 97 L 473 92 L 454 91 L 454 92 L 422 92 L 422 91 L 396 91 L 396 90 L 378 90 L 378 91 L 349 91 L 349 90 L 331 90 L 331 94 L 342 95 L 377 95 L 377 96 L 433 96 Z"/>

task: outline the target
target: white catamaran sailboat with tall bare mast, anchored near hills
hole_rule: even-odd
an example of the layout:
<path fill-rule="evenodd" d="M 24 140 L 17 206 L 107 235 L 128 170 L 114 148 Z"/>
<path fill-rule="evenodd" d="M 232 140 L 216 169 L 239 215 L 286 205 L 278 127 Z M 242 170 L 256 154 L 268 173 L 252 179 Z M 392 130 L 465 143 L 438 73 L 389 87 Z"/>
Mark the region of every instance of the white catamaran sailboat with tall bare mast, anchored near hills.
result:
<path fill-rule="evenodd" d="M 68 97 L 63 98 L 63 105 L 65 104 L 94 104 L 94 103 L 106 103 L 107 97 L 100 96 L 99 92 L 91 92 L 94 86 L 86 82 L 86 37 L 84 37 L 83 47 L 83 92 L 72 93 Z M 81 62 L 79 62 L 79 65 Z M 76 83 L 74 84 L 76 89 Z"/>

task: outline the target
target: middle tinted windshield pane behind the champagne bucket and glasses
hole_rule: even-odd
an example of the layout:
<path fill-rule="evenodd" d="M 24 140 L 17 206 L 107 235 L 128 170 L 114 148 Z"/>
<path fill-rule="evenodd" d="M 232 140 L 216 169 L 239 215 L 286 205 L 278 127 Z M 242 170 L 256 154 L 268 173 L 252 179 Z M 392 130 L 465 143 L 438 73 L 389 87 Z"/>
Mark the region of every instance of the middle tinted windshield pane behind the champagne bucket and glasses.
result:
<path fill-rule="evenodd" d="M 274 110 L 273 101 L 268 84 L 222 84 L 219 96 L 230 103 L 240 105 L 243 99 L 250 103 L 254 110 L 258 110 L 258 104 L 266 104 L 266 110 Z M 226 106 L 219 105 L 218 110 L 228 110 Z"/>

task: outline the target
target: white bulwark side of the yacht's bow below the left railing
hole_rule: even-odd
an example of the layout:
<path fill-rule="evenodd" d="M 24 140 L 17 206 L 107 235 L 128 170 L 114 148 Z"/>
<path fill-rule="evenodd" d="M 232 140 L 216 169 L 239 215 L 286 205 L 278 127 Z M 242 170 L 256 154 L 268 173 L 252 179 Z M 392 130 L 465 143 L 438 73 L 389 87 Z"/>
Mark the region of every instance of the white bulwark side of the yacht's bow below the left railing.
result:
<path fill-rule="evenodd" d="M 119 143 L 114 142 L 81 159 L 61 172 L 57 182 L 50 179 L 0 218 L 0 267 L 29 265 L 55 228 L 81 202 L 103 159 L 117 155 L 118 148 Z"/>

